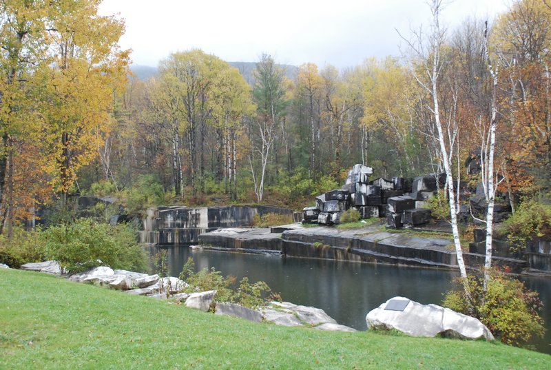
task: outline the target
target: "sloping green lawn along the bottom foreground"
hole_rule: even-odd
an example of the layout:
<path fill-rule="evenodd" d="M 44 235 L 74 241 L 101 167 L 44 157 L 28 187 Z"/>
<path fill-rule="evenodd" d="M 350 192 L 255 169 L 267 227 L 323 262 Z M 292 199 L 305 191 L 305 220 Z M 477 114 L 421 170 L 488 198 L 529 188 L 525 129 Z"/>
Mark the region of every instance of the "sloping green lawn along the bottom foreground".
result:
<path fill-rule="evenodd" d="M 0 369 L 550 369 L 488 342 L 255 324 L 0 269 Z"/>

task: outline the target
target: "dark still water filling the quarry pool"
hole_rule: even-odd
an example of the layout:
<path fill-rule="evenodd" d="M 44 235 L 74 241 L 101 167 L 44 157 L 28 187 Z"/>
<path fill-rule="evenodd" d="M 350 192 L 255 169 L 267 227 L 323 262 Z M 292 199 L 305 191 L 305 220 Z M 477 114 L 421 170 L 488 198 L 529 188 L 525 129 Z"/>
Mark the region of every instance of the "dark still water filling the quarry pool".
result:
<path fill-rule="evenodd" d="M 156 249 L 152 249 L 154 253 Z M 366 314 L 394 296 L 420 303 L 441 304 L 443 294 L 453 287 L 455 271 L 422 269 L 334 260 L 282 258 L 256 254 L 236 254 L 166 249 L 171 276 L 178 276 L 188 257 L 196 270 L 214 267 L 223 276 L 247 276 L 250 282 L 263 280 L 283 300 L 323 309 L 339 324 L 366 330 Z M 539 291 L 545 305 L 543 316 L 548 331 L 533 343 L 538 351 L 551 353 L 551 279 L 523 278 L 527 287 Z"/>

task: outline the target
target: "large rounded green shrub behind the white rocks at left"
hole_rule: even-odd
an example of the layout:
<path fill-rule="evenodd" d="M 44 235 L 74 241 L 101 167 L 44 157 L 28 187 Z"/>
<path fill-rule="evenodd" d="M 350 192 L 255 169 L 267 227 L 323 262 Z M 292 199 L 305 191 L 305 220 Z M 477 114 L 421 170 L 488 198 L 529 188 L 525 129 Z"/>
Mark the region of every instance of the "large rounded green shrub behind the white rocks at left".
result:
<path fill-rule="evenodd" d="M 45 257 L 57 260 L 69 272 L 107 265 L 113 269 L 145 271 L 147 255 L 127 224 L 111 227 L 81 218 L 52 226 L 41 233 Z"/>

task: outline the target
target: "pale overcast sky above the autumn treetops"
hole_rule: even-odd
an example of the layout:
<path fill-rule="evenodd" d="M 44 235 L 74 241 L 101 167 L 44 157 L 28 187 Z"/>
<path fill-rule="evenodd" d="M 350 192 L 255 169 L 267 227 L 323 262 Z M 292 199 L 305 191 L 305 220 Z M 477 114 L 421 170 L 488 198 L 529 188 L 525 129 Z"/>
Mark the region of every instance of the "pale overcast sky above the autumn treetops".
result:
<path fill-rule="evenodd" d="M 492 21 L 511 0 L 448 1 L 443 21 Z M 156 66 L 171 52 L 199 48 L 225 61 L 313 62 L 337 68 L 370 56 L 399 56 L 400 37 L 428 25 L 425 0 L 104 0 L 104 15 L 125 19 L 122 48 L 134 64 Z M 403 42 L 402 42 L 403 45 Z"/>

